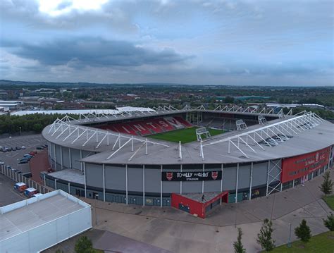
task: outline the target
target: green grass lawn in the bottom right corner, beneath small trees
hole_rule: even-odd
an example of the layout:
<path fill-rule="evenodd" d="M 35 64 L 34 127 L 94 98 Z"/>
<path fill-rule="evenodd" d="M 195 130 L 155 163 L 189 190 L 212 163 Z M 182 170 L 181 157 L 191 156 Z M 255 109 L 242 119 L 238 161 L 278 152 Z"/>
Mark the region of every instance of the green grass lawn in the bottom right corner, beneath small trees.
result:
<path fill-rule="evenodd" d="M 320 235 L 311 237 L 309 242 L 304 243 L 300 240 L 292 242 L 292 247 L 288 248 L 287 245 L 276 247 L 272 251 L 273 253 L 282 252 L 309 252 L 309 253 L 333 253 L 334 252 L 334 232 L 326 232 Z"/>

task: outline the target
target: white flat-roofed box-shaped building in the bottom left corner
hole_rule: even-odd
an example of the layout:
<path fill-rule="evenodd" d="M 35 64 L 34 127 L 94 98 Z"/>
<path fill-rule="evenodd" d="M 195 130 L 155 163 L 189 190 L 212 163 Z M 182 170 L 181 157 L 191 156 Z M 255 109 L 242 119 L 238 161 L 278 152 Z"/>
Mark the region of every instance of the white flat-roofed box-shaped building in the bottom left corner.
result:
<path fill-rule="evenodd" d="M 0 252 L 40 252 L 89 228 L 89 204 L 55 190 L 0 208 Z"/>

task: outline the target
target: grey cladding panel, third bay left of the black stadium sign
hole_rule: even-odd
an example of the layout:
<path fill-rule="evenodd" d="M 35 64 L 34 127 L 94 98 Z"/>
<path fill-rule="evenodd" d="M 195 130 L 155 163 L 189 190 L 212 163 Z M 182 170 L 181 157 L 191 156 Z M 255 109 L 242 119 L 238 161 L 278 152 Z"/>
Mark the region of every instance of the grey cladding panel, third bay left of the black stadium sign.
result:
<path fill-rule="evenodd" d="M 126 171 L 124 167 L 105 166 L 106 189 L 126 190 Z"/>

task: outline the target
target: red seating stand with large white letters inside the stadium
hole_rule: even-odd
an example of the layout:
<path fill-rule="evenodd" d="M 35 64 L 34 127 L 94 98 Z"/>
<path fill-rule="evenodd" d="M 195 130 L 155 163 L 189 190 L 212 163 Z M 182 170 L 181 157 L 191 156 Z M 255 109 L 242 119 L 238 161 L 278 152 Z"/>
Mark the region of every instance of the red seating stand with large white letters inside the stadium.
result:
<path fill-rule="evenodd" d="M 152 118 L 143 121 L 131 121 L 127 123 L 99 126 L 99 128 L 104 130 L 142 136 L 190 127 L 192 127 L 192 124 L 181 117 Z"/>

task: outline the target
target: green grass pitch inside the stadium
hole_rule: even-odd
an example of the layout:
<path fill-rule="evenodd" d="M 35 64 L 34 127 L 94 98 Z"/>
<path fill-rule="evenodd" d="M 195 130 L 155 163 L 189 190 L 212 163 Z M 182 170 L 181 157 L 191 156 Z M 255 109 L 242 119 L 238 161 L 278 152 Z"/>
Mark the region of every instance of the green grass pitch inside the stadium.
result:
<path fill-rule="evenodd" d="M 209 129 L 211 136 L 220 135 L 223 130 Z M 187 143 L 197 140 L 196 127 L 173 130 L 171 132 L 161 132 L 156 135 L 149 135 L 150 138 L 158 140 L 167 140 L 168 142 L 179 142 Z"/>

